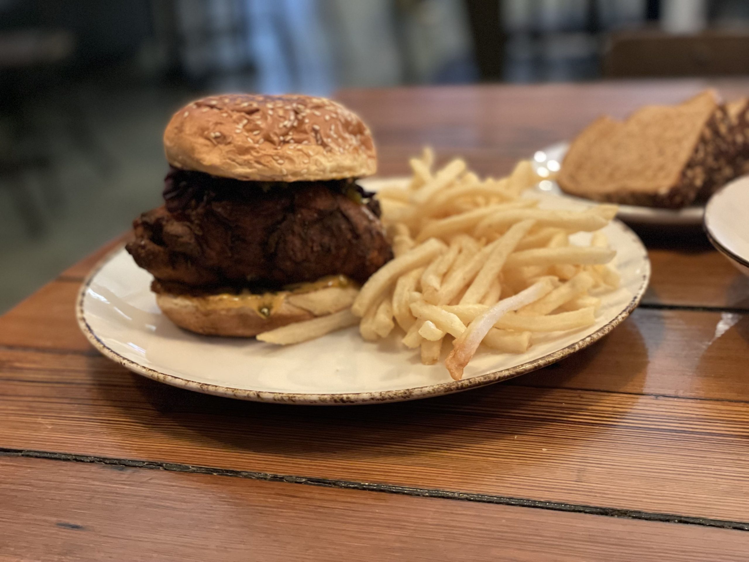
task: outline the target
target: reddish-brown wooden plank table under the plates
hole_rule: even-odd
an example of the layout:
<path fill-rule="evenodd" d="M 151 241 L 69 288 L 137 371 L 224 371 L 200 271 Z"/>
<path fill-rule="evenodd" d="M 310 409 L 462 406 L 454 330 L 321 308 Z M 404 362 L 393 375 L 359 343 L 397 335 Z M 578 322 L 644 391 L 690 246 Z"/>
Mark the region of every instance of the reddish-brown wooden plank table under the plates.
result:
<path fill-rule="evenodd" d="M 500 174 L 601 112 L 702 87 L 340 98 L 383 174 L 424 143 Z M 73 299 L 102 250 L 0 318 L 0 561 L 746 560 L 749 280 L 699 232 L 646 241 L 651 288 L 601 342 L 506 384 L 348 408 L 204 396 L 101 357 Z"/>

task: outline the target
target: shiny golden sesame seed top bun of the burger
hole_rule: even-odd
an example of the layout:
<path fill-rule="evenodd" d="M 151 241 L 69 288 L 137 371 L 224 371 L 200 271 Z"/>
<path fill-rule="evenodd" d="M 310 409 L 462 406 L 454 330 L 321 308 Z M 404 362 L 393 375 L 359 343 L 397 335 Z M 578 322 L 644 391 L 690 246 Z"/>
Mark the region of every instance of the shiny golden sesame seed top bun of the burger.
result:
<path fill-rule="evenodd" d="M 175 168 L 245 181 L 358 178 L 377 169 L 369 128 L 324 97 L 204 97 L 175 113 L 164 148 Z"/>

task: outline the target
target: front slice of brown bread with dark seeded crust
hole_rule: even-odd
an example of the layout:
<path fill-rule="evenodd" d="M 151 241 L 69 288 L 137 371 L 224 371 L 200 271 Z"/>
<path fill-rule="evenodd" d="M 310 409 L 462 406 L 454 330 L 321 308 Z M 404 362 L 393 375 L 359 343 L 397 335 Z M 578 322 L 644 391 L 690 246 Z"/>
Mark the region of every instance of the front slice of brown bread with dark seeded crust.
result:
<path fill-rule="evenodd" d="M 601 117 L 572 142 L 557 177 L 562 190 L 595 201 L 681 208 L 734 152 L 731 122 L 714 91 L 677 106 L 644 106 L 625 121 Z"/>

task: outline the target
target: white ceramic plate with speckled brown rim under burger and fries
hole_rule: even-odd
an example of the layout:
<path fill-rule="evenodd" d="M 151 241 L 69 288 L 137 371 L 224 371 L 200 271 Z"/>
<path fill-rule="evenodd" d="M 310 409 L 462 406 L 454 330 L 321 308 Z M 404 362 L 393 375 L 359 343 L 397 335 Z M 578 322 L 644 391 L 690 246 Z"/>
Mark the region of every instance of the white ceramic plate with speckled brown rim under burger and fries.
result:
<path fill-rule="evenodd" d="M 369 187 L 374 186 L 370 183 Z M 559 197 L 542 199 L 546 208 L 580 208 Z M 442 364 L 419 363 L 418 353 L 405 348 L 395 336 L 365 342 L 357 328 L 288 347 L 181 330 L 161 314 L 149 290 L 151 275 L 136 266 L 124 249 L 112 253 L 89 275 L 79 295 L 77 315 L 85 336 L 106 357 L 141 375 L 189 390 L 297 404 L 437 396 L 554 363 L 624 320 L 646 289 L 650 263 L 640 239 L 622 223 L 614 221 L 605 232 L 617 250 L 622 288 L 603 297 L 595 325 L 542 336 L 521 355 L 479 351 L 462 381 L 452 381 Z M 574 237 L 577 244 L 588 240 L 586 234 Z"/>

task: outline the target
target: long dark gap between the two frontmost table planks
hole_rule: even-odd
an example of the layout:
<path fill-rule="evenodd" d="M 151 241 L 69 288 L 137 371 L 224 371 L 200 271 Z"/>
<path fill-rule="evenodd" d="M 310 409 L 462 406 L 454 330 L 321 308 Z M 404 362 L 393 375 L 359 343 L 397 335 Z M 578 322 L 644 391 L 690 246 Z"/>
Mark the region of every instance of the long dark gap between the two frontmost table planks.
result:
<path fill-rule="evenodd" d="M 291 484 L 306 484 L 308 486 L 324 486 L 329 488 L 354 489 L 366 492 L 380 492 L 386 494 L 410 495 L 421 498 L 442 498 L 458 501 L 476 501 L 484 504 L 501 504 L 516 507 L 531 507 L 540 510 L 564 511 L 571 513 L 586 513 L 605 517 L 619 517 L 622 519 L 638 519 L 641 521 L 655 521 L 664 523 L 679 523 L 682 525 L 699 525 L 702 527 L 715 527 L 731 529 L 733 531 L 749 531 L 749 522 L 727 521 L 725 519 L 709 519 L 703 517 L 680 516 L 673 513 L 654 513 L 638 510 L 620 510 L 614 507 L 598 507 L 582 504 L 565 504 L 555 501 L 538 501 L 526 498 L 512 498 L 490 494 L 470 494 L 463 492 L 450 492 L 449 490 L 433 488 L 416 488 L 412 486 L 392 486 L 388 484 L 376 484 L 356 482 L 352 480 L 333 480 L 330 478 L 303 477 L 291 474 L 272 474 L 267 472 L 237 471 L 226 468 L 213 468 L 198 465 L 183 465 L 172 462 L 139 461 L 133 459 L 112 459 L 100 456 L 74 455 L 68 453 L 53 453 L 50 451 L 8 449 L 0 447 L 0 456 L 20 456 L 30 459 L 51 459 L 62 462 L 84 462 L 100 465 L 109 465 L 122 468 L 144 468 L 151 470 L 164 470 L 175 472 L 187 472 L 193 474 L 211 474 L 213 476 L 225 476 L 234 478 L 246 478 L 249 480 L 265 480 L 268 482 L 285 482 Z"/>

